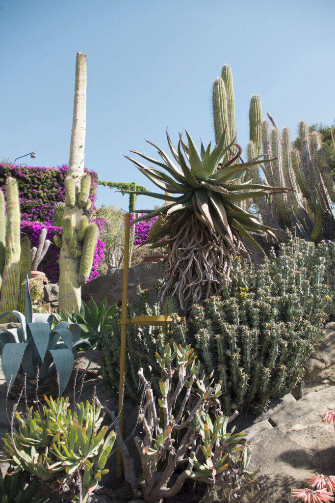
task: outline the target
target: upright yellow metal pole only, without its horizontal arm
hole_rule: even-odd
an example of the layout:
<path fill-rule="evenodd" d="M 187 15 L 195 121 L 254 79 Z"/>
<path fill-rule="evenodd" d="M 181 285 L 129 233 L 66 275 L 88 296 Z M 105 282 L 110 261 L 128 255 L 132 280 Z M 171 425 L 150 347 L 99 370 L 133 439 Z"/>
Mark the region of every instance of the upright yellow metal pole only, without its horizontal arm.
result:
<path fill-rule="evenodd" d="M 129 234 L 130 234 L 130 213 L 125 215 L 125 253 L 123 267 L 123 286 L 122 286 L 122 314 L 121 314 L 121 347 L 120 347 L 120 384 L 119 384 L 119 413 L 120 413 L 120 431 L 124 432 L 124 406 L 123 406 L 123 387 L 126 368 L 126 340 L 127 340 L 127 297 L 128 297 L 128 268 L 129 268 Z M 120 449 L 117 454 L 117 484 L 122 484 L 122 454 Z"/>

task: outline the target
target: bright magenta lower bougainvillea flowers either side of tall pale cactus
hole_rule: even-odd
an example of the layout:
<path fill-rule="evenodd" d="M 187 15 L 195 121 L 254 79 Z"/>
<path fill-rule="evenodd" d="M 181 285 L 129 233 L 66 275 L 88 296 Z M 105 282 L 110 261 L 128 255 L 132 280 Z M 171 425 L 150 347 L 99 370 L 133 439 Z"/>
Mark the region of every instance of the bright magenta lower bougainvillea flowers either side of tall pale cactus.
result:
<path fill-rule="evenodd" d="M 38 238 L 40 236 L 40 232 L 43 227 L 47 228 L 48 231 L 47 239 L 50 239 L 51 245 L 39 266 L 39 270 L 46 274 L 50 283 L 58 283 L 59 280 L 58 260 L 59 260 L 60 249 L 53 244 L 53 237 L 55 234 L 59 235 L 62 234 L 63 230 L 62 227 L 55 227 L 50 223 L 41 224 L 37 222 L 29 222 L 27 220 L 21 221 L 21 233 L 27 234 L 29 236 L 32 246 L 37 246 Z M 101 241 L 101 239 L 98 239 L 94 253 L 93 266 L 88 281 L 98 276 L 97 268 L 103 258 L 103 249 L 104 249 L 104 242 Z"/>

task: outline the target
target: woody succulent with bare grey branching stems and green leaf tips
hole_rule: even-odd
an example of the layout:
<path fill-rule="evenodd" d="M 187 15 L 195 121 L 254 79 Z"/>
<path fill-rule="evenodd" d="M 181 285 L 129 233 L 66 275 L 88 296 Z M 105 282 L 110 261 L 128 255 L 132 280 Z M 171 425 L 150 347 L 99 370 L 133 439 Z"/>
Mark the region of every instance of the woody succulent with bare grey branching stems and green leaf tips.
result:
<path fill-rule="evenodd" d="M 134 495 L 146 503 L 159 503 L 175 496 L 187 479 L 237 493 L 241 481 L 251 483 L 258 470 L 247 470 L 250 452 L 245 434 L 234 434 L 235 427 L 227 431 L 237 413 L 231 417 L 222 413 L 220 383 L 206 377 L 189 345 L 166 345 L 157 360 L 158 399 L 151 377 L 148 381 L 143 368 L 138 371 L 145 393 L 139 413 L 143 433 L 134 438 L 142 464 L 140 477 L 117 429 L 126 481 Z"/>

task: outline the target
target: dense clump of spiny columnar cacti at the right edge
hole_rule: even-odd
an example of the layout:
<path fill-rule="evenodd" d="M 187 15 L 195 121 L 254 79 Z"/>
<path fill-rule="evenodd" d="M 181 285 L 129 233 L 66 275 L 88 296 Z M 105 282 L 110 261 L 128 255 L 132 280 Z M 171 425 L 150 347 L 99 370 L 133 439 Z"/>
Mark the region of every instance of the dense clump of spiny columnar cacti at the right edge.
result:
<path fill-rule="evenodd" d="M 273 159 L 262 165 L 265 174 L 263 183 L 294 189 L 253 201 L 263 222 L 281 229 L 277 236 L 284 240 L 287 239 L 288 231 L 313 241 L 332 239 L 335 230 L 335 213 L 331 203 L 334 185 L 319 134 L 316 131 L 309 132 L 308 126 L 300 122 L 300 147 L 295 149 L 290 142 L 288 129 L 284 128 L 280 134 L 271 116 L 272 131 L 269 122 L 263 121 L 262 129 L 257 129 L 255 134 L 256 99 L 259 97 L 253 96 L 250 103 L 250 140 L 254 146 L 262 143 L 264 158 Z M 253 176 L 258 179 L 259 175 L 255 171 Z M 250 179 L 251 174 L 248 176 Z"/>

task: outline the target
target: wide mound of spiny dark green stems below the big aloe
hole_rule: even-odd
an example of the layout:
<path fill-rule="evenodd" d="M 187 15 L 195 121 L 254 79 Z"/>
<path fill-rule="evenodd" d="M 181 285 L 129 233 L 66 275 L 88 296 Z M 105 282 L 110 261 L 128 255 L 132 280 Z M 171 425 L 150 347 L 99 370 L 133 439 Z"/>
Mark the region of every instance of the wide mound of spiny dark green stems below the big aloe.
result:
<path fill-rule="evenodd" d="M 171 327 L 169 337 L 196 346 L 209 373 L 224 380 L 224 406 L 252 404 L 258 411 L 273 396 L 282 396 L 297 383 L 306 359 L 315 350 L 322 324 L 331 309 L 332 264 L 335 244 L 290 239 L 281 243 L 278 256 L 255 272 L 236 261 L 232 283 L 222 282 L 219 296 L 195 305 L 188 325 Z M 161 314 L 157 302 L 150 306 L 145 294 L 131 306 L 129 316 Z M 119 377 L 120 325 L 113 321 L 113 337 L 106 336 L 102 371 L 115 392 Z M 150 365 L 158 390 L 156 352 L 165 340 L 161 327 L 130 325 L 127 332 L 126 393 L 137 396 L 136 368 Z"/>

